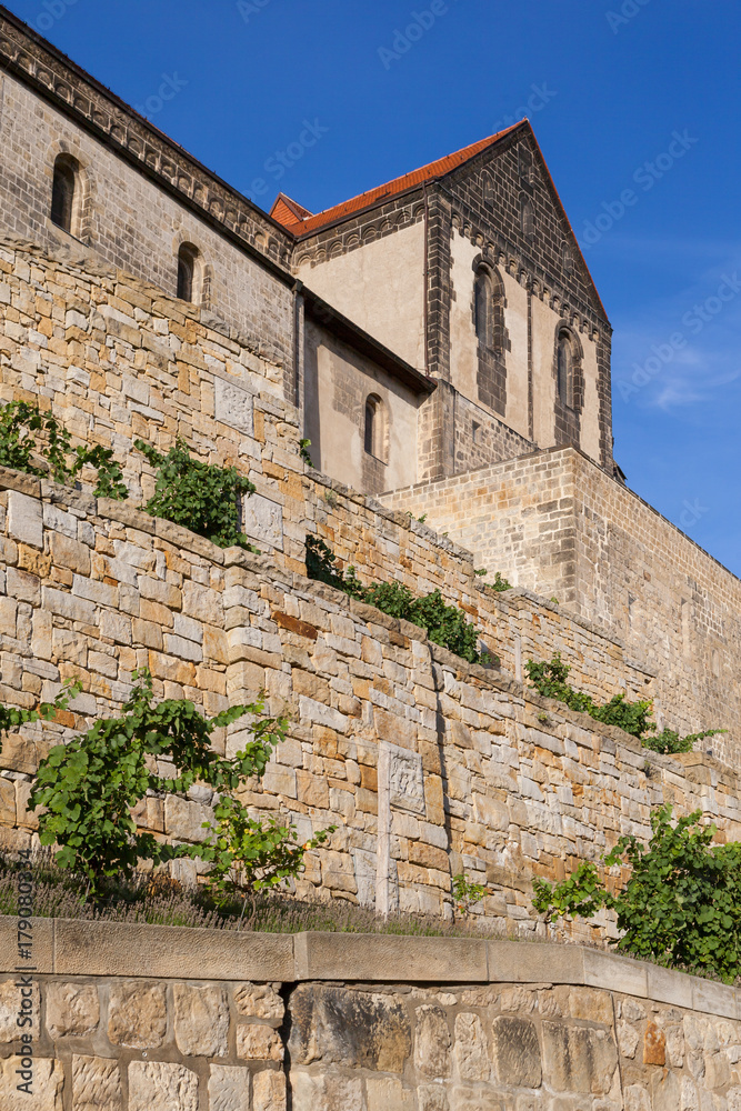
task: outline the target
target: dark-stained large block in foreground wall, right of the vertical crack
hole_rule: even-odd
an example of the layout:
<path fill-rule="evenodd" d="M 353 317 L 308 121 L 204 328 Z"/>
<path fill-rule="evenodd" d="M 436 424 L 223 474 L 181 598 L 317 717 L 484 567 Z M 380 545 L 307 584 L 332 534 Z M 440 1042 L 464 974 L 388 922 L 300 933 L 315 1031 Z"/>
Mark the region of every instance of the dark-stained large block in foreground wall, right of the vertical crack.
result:
<path fill-rule="evenodd" d="M 300 985 L 291 995 L 291 1061 L 401 1072 L 411 1052 L 403 1008 L 387 995 Z"/>

